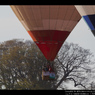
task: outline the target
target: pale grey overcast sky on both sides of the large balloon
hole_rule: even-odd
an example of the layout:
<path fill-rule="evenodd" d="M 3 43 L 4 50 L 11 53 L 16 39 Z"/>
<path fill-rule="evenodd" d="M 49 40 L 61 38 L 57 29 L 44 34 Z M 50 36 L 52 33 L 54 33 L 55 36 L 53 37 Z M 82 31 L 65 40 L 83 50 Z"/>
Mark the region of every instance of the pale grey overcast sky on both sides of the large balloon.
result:
<path fill-rule="evenodd" d="M 32 40 L 10 6 L 0 5 L 0 42 L 11 39 Z M 95 37 L 83 18 L 73 29 L 66 41 L 79 44 L 79 46 L 85 49 L 90 49 L 95 55 Z"/>

